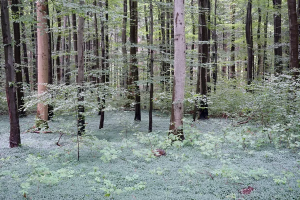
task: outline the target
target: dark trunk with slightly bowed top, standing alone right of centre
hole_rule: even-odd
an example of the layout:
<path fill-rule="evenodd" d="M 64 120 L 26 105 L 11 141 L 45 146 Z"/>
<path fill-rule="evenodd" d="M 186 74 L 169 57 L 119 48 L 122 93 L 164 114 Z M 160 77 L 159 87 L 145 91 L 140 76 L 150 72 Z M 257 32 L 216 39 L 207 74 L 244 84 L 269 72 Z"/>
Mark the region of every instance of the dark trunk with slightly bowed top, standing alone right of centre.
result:
<path fill-rule="evenodd" d="M 247 14 L 246 14 L 246 42 L 247 42 L 247 83 L 252 82 L 252 67 L 253 67 L 253 42 L 251 37 L 251 10 L 252 10 L 252 0 L 248 0 Z"/>

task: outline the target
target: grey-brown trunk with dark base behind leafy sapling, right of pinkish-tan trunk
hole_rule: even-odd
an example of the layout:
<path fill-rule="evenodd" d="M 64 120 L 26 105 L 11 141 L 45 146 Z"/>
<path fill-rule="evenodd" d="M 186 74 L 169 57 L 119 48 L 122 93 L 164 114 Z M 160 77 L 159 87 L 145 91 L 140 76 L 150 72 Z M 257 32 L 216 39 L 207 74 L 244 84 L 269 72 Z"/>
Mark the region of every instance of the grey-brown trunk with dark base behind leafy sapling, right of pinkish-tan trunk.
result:
<path fill-rule="evenodd" d="M 80 4 L 83 4 L 83 1 L 80 0 Z M 81 135 L 84 132 L 84 106 L 81 101 L 84 100 L 82 96 L 83 93 L 83 80 L 84 80 L 84 63 L 83 63 L 83 28 L 84 28 L 84 17 L 78 17 L 78 38 L 77 38 L 77 53 L 78 53 L 78 76 L 77 76 L 77 85 L 78 85 L 78 122 L 77 122 L 77 134 Z"/>

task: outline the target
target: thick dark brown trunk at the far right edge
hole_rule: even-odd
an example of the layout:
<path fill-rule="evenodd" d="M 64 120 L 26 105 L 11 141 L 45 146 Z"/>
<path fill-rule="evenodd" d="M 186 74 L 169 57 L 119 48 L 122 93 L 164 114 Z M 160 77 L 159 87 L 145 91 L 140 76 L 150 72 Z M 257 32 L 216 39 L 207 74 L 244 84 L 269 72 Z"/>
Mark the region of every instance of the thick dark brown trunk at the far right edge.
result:
<path fill-rule="evenodd" d="M 287 0 L 289 22 L 289 68 L 298 68 L 298 21 L 296 0 Z"/>

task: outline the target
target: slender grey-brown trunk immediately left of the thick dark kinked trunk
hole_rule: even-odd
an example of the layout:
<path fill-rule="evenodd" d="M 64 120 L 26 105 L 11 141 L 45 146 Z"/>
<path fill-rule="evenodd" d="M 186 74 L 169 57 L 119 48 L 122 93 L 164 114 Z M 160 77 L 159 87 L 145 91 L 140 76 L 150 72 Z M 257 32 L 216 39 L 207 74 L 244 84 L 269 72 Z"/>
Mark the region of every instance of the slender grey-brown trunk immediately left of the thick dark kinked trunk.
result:
<path fill-rule="evenodd" d="M 122 56 L 123 56 L 123 87 L 128 88 L 128 65 L 126 50 L 126 29 L 127 29 L 127 0 L 123 0 L 123 24 L 122 24 Z"/>

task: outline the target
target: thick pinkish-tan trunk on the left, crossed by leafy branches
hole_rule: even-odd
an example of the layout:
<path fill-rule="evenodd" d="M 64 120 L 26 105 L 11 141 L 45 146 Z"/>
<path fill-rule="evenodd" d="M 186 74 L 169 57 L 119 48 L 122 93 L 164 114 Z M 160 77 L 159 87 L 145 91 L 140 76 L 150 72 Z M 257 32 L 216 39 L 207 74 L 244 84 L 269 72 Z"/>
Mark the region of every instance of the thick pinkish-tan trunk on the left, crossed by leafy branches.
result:
<path fill-rule="evenodd" d="M 47 24 L 46 0 L 36 2 L 37 15 L 37 93 L 40 95 L 46 92 L 46 83 L 48 83 L 48 34 L 46 33 Z M 43 102 L 37 104 L 37 113 L 35 126 L 48 127 L 48 105 Z"/>

